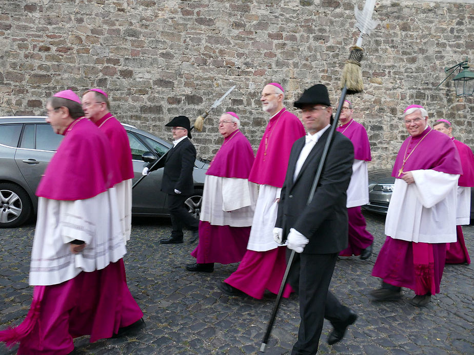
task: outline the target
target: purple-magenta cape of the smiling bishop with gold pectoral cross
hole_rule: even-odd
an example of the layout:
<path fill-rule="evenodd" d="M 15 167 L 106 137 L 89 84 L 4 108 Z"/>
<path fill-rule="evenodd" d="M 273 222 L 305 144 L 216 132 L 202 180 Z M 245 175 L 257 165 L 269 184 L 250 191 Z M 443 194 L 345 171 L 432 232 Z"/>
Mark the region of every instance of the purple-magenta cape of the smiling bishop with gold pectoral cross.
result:
<path fill-rule="evenodd" d="M 424 137 L 424 138 L 423 138 Z M 393 165 L 392 176 L 400 178 L 399 170 L 402 168 L 403 159 L 406 159 L 404 172 L 411 170 L 436 170 L 447 174 L 462 174 L 461 161 L 455 144 L 445 134 L 428 127 L 416 137 L 407 137 L 402 143 L 397 159 Z M 423 140 L 421 141 L 421 139 Z M 417 147 L 417 144 L 420 143 Z M 413 151 L 414 150 L 414 151 Z"/>

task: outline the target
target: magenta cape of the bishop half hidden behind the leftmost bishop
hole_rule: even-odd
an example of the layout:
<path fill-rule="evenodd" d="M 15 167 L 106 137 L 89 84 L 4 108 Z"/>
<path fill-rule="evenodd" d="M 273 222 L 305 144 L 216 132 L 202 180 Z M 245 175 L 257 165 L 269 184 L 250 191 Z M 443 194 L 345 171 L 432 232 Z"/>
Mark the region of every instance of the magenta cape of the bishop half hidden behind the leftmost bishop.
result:
<path fill-rule="evenodd" d="M 109 112 L 100 120 L 95 122 L 96 126 L 105 133 L 110 141 L 112 154 L 117 159 L 118 169 L 120 170 L 122 181 L 132 179 L 133 164 L 132 151 L 128 141 L 127 132 L 118 120 Z"/>

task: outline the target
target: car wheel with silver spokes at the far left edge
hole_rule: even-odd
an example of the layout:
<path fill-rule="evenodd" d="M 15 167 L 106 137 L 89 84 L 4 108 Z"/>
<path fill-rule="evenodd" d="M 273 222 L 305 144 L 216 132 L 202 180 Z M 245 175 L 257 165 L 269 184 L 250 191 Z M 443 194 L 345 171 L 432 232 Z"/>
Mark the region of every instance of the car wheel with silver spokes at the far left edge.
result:
<path fill-rule="evenodd" d="M 17 227 L 31 215 L 31 202 L 22 187 L 0 183 L 0 227 Z"/>

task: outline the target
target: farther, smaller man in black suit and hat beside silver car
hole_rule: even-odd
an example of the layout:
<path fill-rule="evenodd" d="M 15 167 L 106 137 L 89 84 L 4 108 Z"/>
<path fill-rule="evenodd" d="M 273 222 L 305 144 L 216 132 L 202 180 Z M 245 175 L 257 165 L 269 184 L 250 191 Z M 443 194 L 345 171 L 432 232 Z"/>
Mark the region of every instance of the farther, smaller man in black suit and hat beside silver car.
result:
<path fill-rule="evenodd" d="M 173 229 L 171 236 L 160 239 L 160 243 L 183 243 L 183 224 L 192 231 L 192 238 L 190 239 L 190 243 L 192 243 L 198 239 L 199 220 L 194 218 L 184 205 L 184 202 L 194 192 L 192 171 L 196 160 L 196 149 L 188 139 L 191 138 L 191 124 L 188 117 L 176 116 L 165 126 L 171 127 L 174 140 L 173 148 L 166 153 L 161 191 L 168 194 L 168 209 Z M 162 166 L 159 163 L 153 170 Z M 147 168 L 148 166 L 143 171 L 144 175 L 149 172 Z"/>

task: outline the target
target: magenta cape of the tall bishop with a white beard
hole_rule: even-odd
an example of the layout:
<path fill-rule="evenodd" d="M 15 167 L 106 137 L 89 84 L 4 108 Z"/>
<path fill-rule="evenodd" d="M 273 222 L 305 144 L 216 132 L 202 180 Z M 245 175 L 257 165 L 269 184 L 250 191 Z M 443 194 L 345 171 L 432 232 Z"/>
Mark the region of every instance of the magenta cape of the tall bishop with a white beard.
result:
<path fill-rule="evenodd" d="M 305 135 L 297 116 L 282 109 L 270 119 L 260 141 L 249 181 L 282 187 L 293 143 Z"/>

